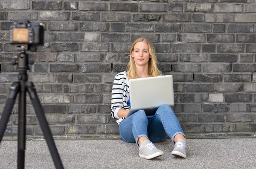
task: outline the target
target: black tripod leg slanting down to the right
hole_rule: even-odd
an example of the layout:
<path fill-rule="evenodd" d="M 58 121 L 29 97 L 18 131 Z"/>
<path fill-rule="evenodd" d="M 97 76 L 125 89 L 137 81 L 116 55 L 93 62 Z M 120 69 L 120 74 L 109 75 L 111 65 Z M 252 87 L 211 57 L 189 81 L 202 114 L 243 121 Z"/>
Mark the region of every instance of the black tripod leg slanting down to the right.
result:
<path fill-rule="evenodd" d="M 40 100 L 38 99 L 38 95 L 36 94 L 35 91 L 35 86 L 32 82 L 28 83 L 27 89 L 29 91 L 29 96 L 32 101 L 33 107 L 35 109 L 35 113 L 38 117 L 38 121 L 40 123 L 41 129 L 43 131 L 44 137 L 46 139 L 48 148 L 50 150 L 50 153 L 52 155 L 52 160 L 55 164 L 56 169 L 64 169 L 62 163 L 61 163 L 61 158 L 58 154 L 58 150 L 55 146 L 52 133 L 50 131 L 48 122 L 46 120 L 46 117 L 44 116 L 44 110 L 41 106 Z"/>

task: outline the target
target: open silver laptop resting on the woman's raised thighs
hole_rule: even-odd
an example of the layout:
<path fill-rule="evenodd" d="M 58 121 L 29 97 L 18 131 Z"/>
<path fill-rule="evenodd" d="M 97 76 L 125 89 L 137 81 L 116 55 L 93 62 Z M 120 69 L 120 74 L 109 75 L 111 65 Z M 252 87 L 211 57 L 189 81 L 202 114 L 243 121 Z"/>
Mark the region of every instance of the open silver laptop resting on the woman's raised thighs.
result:
<path fill-rule="evenodd" d="M 130 79 L 129 86 L 131 111 L 126 117 L 138 110 L 154 115 L 163 104 L 174 106 L 172 75 Z"/>

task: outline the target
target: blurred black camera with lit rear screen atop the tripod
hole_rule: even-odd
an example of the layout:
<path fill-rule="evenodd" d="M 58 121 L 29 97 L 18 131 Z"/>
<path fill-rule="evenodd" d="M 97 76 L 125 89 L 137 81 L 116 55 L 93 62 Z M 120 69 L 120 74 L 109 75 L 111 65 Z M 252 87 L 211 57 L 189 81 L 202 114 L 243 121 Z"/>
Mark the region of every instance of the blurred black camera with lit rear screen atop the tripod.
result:
<path fill-rule="evenodd" d="M 26 19 L 14 22 L 10 27 L 10 42 L 13 45 L 44 45 L 44 26 L 42 23 L 30 23 Z"/>

